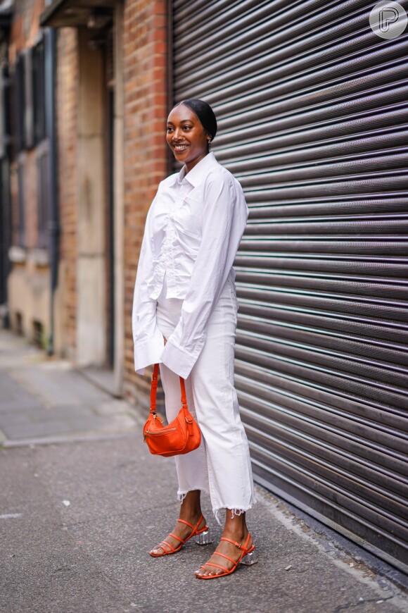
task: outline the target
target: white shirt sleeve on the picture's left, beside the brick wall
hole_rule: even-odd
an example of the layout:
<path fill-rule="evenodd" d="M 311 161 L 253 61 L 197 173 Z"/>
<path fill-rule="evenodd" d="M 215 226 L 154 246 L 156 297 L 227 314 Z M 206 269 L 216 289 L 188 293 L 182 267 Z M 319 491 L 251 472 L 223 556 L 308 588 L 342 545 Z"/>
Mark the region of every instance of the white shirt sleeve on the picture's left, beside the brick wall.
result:
<path fill-rule="evenodd" d="M 141 375 L 144 368 L 160 361 L 164 347 L 163 335 L 156 323 L 157 302 L 149 297 L 149 281 L 153 275 L 153 232 L 151 228 L 153 207 L 146 217 L 144 238 L 141 244 L 139 266 L 132 309 L 132 332 L 134 340 L 134 370 Z"/>

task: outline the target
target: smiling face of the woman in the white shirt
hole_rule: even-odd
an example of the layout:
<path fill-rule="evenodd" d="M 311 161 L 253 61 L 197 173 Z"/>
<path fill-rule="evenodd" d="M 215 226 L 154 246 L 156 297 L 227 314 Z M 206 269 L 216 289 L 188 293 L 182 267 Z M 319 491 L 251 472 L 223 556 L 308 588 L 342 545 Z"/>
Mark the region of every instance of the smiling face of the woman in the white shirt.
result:
<path fill-rule="evenodd" d="M 188 106 L 179 104 L 167 118 L 167 144 L 178 162 L 186 164 L 186 172 L 208 154 L 208 135 Z"/>

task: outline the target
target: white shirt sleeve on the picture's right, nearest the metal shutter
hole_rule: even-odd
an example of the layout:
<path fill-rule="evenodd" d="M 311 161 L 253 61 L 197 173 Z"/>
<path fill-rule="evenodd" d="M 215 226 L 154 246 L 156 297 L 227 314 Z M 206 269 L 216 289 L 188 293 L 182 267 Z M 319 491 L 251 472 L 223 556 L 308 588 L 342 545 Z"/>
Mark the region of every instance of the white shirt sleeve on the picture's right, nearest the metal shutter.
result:
<path fill-rule="evenodd" d="M 189 376 L 206 338 L 208 318 L 231 271 L 248 218 L 241 186 L 225 173 L 205 186 L 203 230 L 181 317 L 167 340 L 161 361 Z"/>

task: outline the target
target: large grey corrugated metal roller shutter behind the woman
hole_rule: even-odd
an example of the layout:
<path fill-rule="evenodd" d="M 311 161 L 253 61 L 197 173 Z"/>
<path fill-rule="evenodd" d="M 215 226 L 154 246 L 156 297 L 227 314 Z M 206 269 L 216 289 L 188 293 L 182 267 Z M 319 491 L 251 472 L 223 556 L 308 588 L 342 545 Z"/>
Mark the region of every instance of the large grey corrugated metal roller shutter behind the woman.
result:
<path fill-rule="evenodd" d="M 212 104 L 250 206 L 236 387 L 256 478 L 407 571 L 408 36 L 374 35 L 372 1 L 172 4 L 174 100 Z"/>

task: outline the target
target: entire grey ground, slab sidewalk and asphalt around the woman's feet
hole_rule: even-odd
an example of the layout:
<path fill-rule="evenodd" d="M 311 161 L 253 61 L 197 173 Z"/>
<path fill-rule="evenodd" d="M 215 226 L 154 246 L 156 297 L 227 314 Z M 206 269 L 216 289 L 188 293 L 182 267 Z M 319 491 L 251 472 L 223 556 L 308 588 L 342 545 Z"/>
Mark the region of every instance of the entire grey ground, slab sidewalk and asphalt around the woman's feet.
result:
<path fill-rule="evenodd" d="M 214 545 L 153 559 L 178 503 L 173 459 L 142 441 L 146 416 L 4 331 L 0 386 L 1 612 L 408 611 L 355 545 L 338 546 L 262 488 L 248 513 L 255 566 L 193 576 L 221 535 L 206 498 Z"/>

